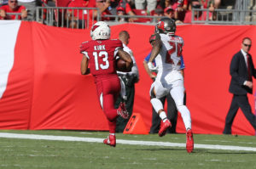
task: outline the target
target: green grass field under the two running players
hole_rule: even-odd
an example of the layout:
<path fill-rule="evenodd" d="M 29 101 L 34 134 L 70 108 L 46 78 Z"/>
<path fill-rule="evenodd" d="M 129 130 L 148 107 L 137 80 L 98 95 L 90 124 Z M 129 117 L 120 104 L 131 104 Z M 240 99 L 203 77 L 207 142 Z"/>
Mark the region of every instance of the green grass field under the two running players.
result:
<path fill-rule="evenodd" d="M 66 136 L 68 138 L 106 138 L 108 132 L 83 131 L 15 131 L 8 133 Z M 88 168 L 88 169 L 199 169 L 199 168 L 256 168 L 256 140 L 254 136 L 195 134 L 195 150 L 188 154 L 185 147 L 121 144 L 121 140 L 139 143 L 185 144 L 184 134 L 125 135 L 117 134 L 115 148 L 102 143 L 84 141 L 3 138 L 0 136 L 0 168 Z M 157 144 L 158 144 L 157 143 Z M 211 145 L 211 149 L 198 148 Z M 232 150 L 235 146 L 239 149 Z M 228 147 L 228 149 L 218 149 Z M 250 150 L 252 149 L 252 150 Z"/>

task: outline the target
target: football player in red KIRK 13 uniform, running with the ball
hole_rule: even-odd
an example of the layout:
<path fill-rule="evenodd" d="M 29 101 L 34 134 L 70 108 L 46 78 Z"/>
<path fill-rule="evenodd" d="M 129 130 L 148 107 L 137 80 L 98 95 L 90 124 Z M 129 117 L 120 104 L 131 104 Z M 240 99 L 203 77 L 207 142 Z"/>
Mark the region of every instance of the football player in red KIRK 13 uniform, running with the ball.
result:
<path fill-rule="evenodd" d="M 121 41 L 109 39 L 110 28 L 105 22 L 96 22 L 91 27 L 90 37 L 92 40 L 83 42 L 80 47 L 80 53 L 84 54 L 81 74 L 91 73 L 95 77 L 97 95 L 109 126 L 109 136 L 103 140 L 103 143 L 115 147 L 116 118 L 118 115 L 128 118 L 124 104 L 121 103 L 119 109 L 114 109 L 114 103 L 121 89 L 116 73 L 116 57 L 119 56 L 120 59 L 125 60 L 127 70 L 131 69 L 132 59 L 123 50 Z"/>

